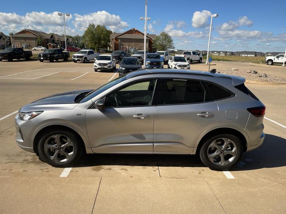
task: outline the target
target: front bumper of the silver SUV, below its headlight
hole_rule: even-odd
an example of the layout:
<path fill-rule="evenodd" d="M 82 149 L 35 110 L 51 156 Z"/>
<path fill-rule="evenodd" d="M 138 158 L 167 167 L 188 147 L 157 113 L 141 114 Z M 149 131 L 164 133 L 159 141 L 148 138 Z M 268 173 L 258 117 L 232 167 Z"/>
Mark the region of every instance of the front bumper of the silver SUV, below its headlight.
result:
<path fill-rule="evenodd" d="M 17 143 L 17 145 L 18 145 L 21 149 L 23 149 L 23 150 L 25 150 L 25 151 L 28 151 L 28 152 L 35 153 L 33 147 L 31 147 L 30 142 L 28 141 L 28 139 L 26 139 L 26 138 L 24 137 L 24 135 L 23 135 L 23 133 L 22 133 L 22 130 L 21 130 L 21 128 L 20 128 L 21 125 L 19 125 L 19 124 L 21 124 L 21 123 L 23 123 L 23 122 L 25 122 L 25 121 L 20 120 L 19 117 L 18 117 L 18 115 L 19 115 L 19 114 L 17 113 L 16 116 L 15 116 L 16 143 Z"/>

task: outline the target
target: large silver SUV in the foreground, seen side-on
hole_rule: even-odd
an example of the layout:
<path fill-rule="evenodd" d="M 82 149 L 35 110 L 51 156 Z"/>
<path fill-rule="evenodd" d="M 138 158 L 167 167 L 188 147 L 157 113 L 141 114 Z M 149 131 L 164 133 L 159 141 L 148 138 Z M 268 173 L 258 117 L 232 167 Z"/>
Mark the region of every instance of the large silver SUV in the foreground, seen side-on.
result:
<path fill-rule="evenodd" d="M 15 117 L 16 142 L 54 167 L 83 153 L 197 154 L 227 170 L 263 143 L 265 106 L 245 79 L 214 72 L 140 70 L 95 90 L 54 94 Z"/>

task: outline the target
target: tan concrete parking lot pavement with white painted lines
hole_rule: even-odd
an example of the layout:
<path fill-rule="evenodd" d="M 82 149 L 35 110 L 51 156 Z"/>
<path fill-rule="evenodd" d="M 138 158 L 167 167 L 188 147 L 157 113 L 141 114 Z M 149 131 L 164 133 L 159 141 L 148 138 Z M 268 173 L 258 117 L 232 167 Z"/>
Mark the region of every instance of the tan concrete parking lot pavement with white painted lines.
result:
<path fill-rule="evenodd" d="M 213 64 L 286 77 L 281 66 Z M 0 62 L 0 213 L 285 212 L 286 84 L 246 83 L 266 105 L 265 141 L 231 171 L 211 171 L 186 155 L 92 154 L 72 168 L 54 168 L 16 145 L 14 117 L 23 105 L 117 76 L 117 69 L 94 72 L 93 62 Z"/>

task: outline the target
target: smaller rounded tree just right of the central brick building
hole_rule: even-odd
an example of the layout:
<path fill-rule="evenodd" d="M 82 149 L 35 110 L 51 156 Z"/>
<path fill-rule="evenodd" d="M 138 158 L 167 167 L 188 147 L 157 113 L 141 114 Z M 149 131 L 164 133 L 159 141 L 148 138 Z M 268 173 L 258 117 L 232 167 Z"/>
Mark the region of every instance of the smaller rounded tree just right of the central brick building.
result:
<path fill-rule="evenodd" d="M 175 46 L 171 35 L 166 32 L 161 32 L 154 39 L 153 48 L 158 51 L 167 51 L 169 49 L 174 49 Z"/>

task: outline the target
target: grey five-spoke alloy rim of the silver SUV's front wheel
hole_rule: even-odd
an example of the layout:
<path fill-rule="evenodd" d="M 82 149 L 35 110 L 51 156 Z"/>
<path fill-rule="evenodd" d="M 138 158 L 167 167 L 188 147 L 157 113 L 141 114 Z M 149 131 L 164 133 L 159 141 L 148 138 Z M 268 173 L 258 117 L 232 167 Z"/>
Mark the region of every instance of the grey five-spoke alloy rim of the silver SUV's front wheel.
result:
<path fill-rule="evenodd" d="M 74 154 L 74 143 L 63 134 L 55 134 L 47 138 L 44 144 L 45 154 L 54 162 L 66 162 Z"/>

